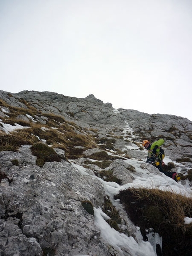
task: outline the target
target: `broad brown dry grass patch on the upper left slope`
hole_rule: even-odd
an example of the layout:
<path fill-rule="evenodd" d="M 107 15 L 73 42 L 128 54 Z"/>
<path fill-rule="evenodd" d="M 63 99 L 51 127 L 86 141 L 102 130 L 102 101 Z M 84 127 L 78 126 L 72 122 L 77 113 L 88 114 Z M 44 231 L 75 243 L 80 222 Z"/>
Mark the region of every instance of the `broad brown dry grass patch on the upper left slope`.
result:
<path fill-rule="evenodd" d="M 47 144 L 64 149 L 69 158 L 77 158 L 82 155 L 83 148 L 86 150 L 97 147 L 93 135 L 85 134 L 83 129 L 74 122 L 66 122 L 62 116 L 52 113 L 42 113 L 22 98 L 19 101 L 25 104 L 26 108 L 13 107 L 0 100 L 0 105 L 7 107 L 10 111 L 9 118 L 4 118 L 3 122 L 13 126 L 17 123 L 22 126 L 30 126 L 30 128 L 16 130 L 11 134 L 1 132 L 0 151 L 17 151 L 23 144 L 33 145 L 39 140 L 46 140 Z M 32 117 L 44 116 L 48 118 L 48 121 L 46 121 L 46 125 L 38 122 L 27 123 L 16 119 L 19 114 L 29 114 Z M 52 127 L 57 129 L 52 129 Z M 79 146 L 82 148 L 77 148 Z"/>

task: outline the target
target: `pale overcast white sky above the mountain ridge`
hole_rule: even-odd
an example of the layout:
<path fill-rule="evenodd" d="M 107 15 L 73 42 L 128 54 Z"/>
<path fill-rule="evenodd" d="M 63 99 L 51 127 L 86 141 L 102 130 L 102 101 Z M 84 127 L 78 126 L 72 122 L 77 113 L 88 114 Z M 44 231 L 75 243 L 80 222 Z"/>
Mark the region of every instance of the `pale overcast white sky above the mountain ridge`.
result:
<path fill-rule="evenodd" d="M 0 0 L 0 90 L 192 121 L 192 0 Z"/>

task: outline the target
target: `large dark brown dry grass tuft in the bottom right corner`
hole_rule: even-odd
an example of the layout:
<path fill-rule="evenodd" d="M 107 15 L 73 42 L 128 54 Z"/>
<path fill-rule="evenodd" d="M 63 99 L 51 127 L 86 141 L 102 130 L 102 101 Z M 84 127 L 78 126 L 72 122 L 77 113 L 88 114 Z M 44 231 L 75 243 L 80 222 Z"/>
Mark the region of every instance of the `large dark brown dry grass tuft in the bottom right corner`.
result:
<path fill-rule="evenodd" d="M 175 256 L 175 251 L 177 255 L 190 255 L 192 225 L 185 225 L 184 217 L 192 218 L 192 198 L 159 189 L 134 188 L 121 190 L 117 198 L 144 237 L 150 228 L 163 237 L 163 256 Z"/>

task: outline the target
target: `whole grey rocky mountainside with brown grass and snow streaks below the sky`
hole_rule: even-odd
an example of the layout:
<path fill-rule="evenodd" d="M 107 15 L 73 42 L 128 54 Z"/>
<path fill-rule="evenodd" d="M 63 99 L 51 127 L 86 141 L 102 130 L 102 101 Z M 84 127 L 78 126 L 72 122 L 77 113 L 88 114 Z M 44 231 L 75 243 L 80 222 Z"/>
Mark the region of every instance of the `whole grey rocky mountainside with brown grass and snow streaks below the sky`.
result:
<path fill-rule="evenodd" d="M 164 178 L 145 163 L 141 147 L 143 139 L 158 138 L 165 139 L 167 162 L 183 175 L 179 186 L 188 188 L 190 197 L 188 119 L 113 109 L 93 95 L 78 99 L 0 91 L 0 255 L 146 255 L 138 228 L 110 189 L 154 173 Z M 39 143 L 45 148 L 37 152 L 33 146 Z M 47 156 L 48 148 L 54 150 Z M 134 238 L 138 248 L 104 239 L 97 209 L 110 216 L 117 232 Z"/>

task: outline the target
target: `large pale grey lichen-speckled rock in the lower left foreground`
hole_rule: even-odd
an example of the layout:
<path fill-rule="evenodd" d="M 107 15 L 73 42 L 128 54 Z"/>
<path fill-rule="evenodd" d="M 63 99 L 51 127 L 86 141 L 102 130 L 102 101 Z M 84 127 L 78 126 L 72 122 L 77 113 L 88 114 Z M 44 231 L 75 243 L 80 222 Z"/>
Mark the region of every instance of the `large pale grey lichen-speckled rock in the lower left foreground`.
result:
<path fill-rule="evenodd" d="M 102 206 L 102 184 L 66 161 L 47 163 L 43 168 L 25 166 L 22 155 L 17 153 L 22 164 L 16 168 L 8 164 L 9 154 L 0 152 L 2 170 L 13 180 L 8 186 L 0 186 L 0 253 L 42 255 L 46 248 L 57 248 L 57 255 L 64 256 L 79 250 L 87 253 L 85 248 L 89 248 L 89 252 L 110 255 L 104 246 L 98 246 L 101 241 L 94 218 L 81 205 L 81 201 L 90 200 Z M 75 242 L 79 234 L 81 245 Z"/>

